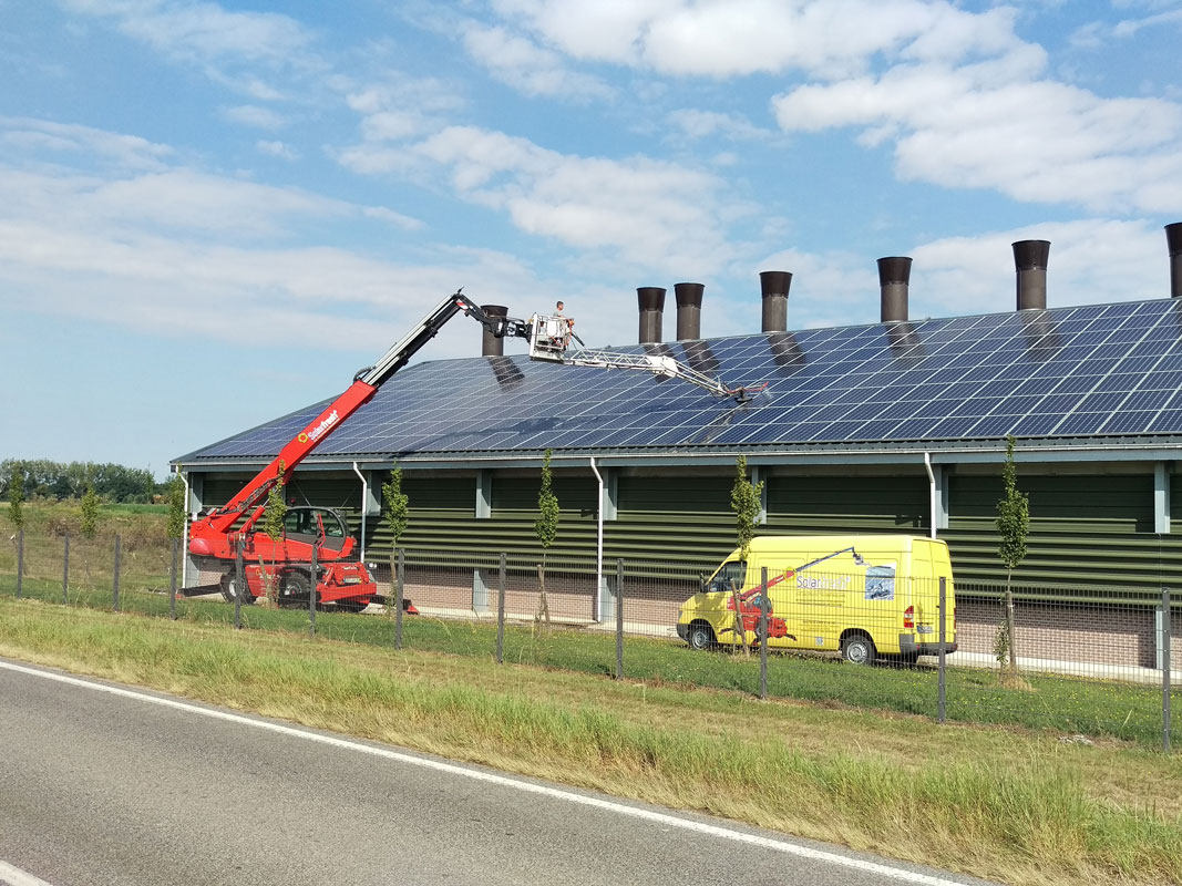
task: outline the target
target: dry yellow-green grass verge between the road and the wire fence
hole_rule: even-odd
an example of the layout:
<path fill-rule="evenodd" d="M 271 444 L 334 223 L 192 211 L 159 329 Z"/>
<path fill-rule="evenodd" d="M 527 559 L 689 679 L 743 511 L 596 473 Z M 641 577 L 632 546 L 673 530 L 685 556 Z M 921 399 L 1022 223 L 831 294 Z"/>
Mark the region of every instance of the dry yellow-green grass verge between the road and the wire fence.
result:
<path fill-rule="evenodd" d="M 320 623 L 309 639 L 261 619 L 235 632 L 196 614 L 174 623 L 4 597 L 0 654 L 1007 882 L 1182 882 L 1177 756 L 668 679 L 498 667 L 488 651 L 324 636 L 382 619 Z"/>

